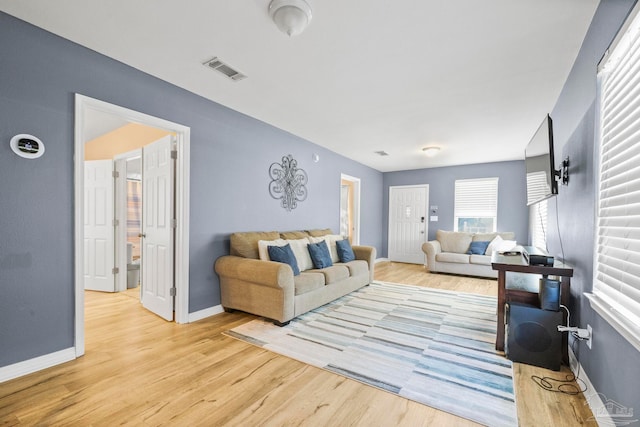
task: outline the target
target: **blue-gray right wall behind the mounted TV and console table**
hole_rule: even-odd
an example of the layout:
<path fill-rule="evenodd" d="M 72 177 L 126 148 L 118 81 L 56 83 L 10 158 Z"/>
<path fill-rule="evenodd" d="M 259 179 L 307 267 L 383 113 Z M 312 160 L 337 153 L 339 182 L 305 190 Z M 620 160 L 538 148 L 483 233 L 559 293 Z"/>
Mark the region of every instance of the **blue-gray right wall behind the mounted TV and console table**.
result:
<path fill-rule="evenodd" d="M 640 410 L 640 352 L 590 307 L 584 293 L 593 289 L 595 242 L 596 66 L 622 25 L 634 0 L 602 0 L 582 49 L 553 109 L 556 160 L 569 156 L 569 185 L 560 186 L 549 204 L 549 250 L 574 267 L 571 323 L 593 327 L 593 347 L 578 343 L 586 375 L 605 399 Z M 555 209 L 558 210 L 556 221 Z M 560 230 L 558 234 L 556 224 Z M 593 390 L 588 390 L 589 397 Z M 637 418 L 637 417 L 634 417 Z"/>

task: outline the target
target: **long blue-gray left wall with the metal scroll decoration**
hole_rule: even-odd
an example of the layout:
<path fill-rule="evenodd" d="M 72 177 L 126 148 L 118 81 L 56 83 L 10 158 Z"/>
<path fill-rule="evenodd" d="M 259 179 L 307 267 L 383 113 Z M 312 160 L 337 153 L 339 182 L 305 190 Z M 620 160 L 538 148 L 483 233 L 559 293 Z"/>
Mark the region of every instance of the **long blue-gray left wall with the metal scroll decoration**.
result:
<path fill-rule="evenodd" d="M 381 249 L 382 173 L 1 12 L 0 58 L 0 367 L 73 346 L 74 93 L 191 128 L 190 312 L 220 303 L 230 233 L 337 231 L 341 173 L 362 180 L 361 243 Z M 13 154 L 18 133 L 44 156 Z M 309 175 L 292 212 L 268 193 L 286 154 Z"/>

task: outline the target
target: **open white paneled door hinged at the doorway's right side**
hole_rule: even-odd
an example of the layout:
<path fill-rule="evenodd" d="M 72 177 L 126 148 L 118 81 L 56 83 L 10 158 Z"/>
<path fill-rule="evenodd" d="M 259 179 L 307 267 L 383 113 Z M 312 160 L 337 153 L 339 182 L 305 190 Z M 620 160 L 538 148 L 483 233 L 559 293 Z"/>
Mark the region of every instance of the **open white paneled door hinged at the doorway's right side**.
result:
<path fill-rule="evenodd" d="M 174 160 L 173 137 L 142 149 L 142 305 L 173 320 Z"/>

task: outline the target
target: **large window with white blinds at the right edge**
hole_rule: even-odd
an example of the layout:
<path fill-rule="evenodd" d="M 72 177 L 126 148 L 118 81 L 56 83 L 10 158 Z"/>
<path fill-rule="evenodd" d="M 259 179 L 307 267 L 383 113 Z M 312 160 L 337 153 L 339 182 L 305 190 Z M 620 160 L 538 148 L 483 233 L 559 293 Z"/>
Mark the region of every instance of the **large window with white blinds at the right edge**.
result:
<path fill-rule="evenodd" d="M 640 22 L 598 67 L 599 173 L 591 306 L 640 350 Z"/>

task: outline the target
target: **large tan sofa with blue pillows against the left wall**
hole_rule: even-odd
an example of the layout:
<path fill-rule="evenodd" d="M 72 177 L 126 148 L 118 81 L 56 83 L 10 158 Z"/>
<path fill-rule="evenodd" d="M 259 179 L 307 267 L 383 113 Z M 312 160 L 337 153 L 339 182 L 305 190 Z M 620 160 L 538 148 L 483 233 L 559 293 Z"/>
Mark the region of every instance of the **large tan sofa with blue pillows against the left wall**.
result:
<path fill-rule="evenodd" d="M 301 272 L 297 276 L 288 264 L 260 259 L 259 246 L 265 248 L 268 245 L 265 242 L 283 239 L 292 248 L 306 250 L 305 241 L 320 238 L 328 239 L 335 260 L 335 238 L 340 237 L 332 235 L 329 229 L 232 234 L 231 255 L 222 256 L 215 263 L 225 311 L 241 310 L 283 325 L 373 281 L 376 249 L 371 246 L 353 246 L 354 261 L 334 262 L 321 270 L 314 269 L 312 263 L 309 265 L 310 258 L 299 261 Z"/>

